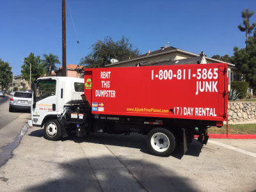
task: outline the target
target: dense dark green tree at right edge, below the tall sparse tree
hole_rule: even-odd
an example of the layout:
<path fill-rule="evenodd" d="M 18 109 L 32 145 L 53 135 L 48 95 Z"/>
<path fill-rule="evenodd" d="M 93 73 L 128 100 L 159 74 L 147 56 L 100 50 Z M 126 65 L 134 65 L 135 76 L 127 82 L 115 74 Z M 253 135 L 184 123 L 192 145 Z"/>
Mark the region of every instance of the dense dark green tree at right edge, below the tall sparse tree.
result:
<path fill-rule="evenodd" d="M 256 31 L 256 29 L 255 29 Z M 256 90 L 256 32 L 248 38 L 246 49 L 234 47 L 234 64 L 243 72 L 250 87 Z"/>

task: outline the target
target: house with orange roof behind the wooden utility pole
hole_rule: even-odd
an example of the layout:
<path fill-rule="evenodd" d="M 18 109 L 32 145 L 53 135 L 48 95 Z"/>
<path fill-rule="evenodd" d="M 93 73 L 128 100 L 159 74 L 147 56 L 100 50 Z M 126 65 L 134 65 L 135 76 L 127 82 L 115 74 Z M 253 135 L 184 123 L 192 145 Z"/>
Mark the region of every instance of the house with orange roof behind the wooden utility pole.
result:
<path fill-rule="evenodd" d="M 59 67 L 58 69 L 54 70 L 54 72 L 52 72 L 52 76 L 62 76 L 62 70 L 62 67 Z M 67 77 L 83 78 L 83 74 L 83 66 L 74 64 L 67 65 Z"/>

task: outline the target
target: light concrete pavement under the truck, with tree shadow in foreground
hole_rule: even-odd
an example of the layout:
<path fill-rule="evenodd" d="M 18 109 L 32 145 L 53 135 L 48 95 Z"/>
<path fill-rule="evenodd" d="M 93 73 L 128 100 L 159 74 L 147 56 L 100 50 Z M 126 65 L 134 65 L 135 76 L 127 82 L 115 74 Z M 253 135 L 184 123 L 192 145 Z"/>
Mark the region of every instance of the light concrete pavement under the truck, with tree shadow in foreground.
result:
<path fill-rule="evenodd" d="M 204 147 L 193 141 L 184 156 L 181 145 L 170 157 L 156 157 L 148 154 L 140 134 L 49 141 L 43 129 L 33 127 L 0 168 L 0 189 L 255 191 L 256 141 L 209 141 Z"/>

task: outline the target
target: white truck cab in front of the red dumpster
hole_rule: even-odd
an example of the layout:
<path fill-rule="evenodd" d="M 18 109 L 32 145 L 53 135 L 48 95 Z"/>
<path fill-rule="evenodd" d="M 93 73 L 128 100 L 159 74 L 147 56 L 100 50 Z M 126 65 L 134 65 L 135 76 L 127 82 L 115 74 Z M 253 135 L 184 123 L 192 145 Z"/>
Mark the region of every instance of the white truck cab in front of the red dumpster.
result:
<path fill-rule="evenodd" d="M 31 120 L 42 126 L 47 116 L 63 114 L 65 106 L 82 100 L 84 79 L 76 77 L 41 77 L 33 84 Z M 31 122 L 29 122 L 31 124 Z"/>

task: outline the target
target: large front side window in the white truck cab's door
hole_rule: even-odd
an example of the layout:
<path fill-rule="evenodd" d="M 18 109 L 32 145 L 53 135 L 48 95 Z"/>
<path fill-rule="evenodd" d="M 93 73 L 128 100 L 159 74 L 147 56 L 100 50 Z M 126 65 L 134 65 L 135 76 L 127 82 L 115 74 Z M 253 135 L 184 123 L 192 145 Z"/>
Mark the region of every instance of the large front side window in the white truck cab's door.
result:
<path fill-rule="evenodd" d="M 47 79 L 36 84 L 36 102 L 56 94 L 56 80 Z"/>

